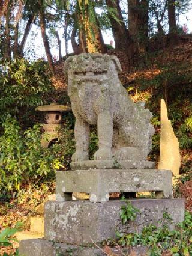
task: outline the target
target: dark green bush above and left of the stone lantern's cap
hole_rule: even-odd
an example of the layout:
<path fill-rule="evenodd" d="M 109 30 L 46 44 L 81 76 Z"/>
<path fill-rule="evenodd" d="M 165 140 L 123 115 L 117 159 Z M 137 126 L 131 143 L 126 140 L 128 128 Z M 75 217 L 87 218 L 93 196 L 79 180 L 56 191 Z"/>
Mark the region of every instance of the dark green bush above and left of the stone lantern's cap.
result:
<path fill-rule="evenodd" d="M 18 114 L 20 109 L 42 105 L 42 97 L 52 90 L 47 64 L 16 59 L 0 62 L 1 119 L 7 113 Z M 0 120 L 1 121 L 1 120 Z"/>

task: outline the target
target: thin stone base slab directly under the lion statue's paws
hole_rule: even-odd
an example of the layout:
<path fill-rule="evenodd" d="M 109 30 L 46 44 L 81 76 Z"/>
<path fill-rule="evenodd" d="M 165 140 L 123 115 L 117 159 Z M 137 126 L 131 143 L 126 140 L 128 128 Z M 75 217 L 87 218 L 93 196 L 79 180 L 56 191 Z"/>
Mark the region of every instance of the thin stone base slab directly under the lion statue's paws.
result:
<path fill-rule="evenodd" d="M 72 170 L 87 169 L 154 169 L 155 162 L 149 161 L 115 161 L 115 160 L 94 160 L 71 162 Z"/>

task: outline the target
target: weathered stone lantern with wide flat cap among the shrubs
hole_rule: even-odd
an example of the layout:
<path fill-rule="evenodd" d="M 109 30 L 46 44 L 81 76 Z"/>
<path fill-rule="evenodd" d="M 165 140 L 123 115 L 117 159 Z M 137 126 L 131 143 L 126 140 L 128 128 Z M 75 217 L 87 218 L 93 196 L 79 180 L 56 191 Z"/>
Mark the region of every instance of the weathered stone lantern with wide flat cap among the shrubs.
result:
<path fill-rule="evenodd" d="M 71 108 L 70 106 L 58 105 L 53 102 L 50 105 L 38 106 L 35 110 L 46 112 L 47 124 L 42 125 L 44 133 L 41 136 L 41 146 L 48 148 L 58 139 L 59 130 L 62 127 L 62 112 L 71 111 Z"/>

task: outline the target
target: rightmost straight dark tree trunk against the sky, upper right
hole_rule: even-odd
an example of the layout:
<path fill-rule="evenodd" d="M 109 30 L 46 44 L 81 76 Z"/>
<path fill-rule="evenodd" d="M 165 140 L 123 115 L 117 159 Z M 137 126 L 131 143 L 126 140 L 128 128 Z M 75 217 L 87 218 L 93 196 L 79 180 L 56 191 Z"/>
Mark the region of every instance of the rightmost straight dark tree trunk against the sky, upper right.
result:
<path fill-rule="evenodd" d="M 174 46 L 179 43 L 177 26 L 176 26 L 175 0 L 168 1 L 168 21 L 169 21 L 170 44 Z"/>

